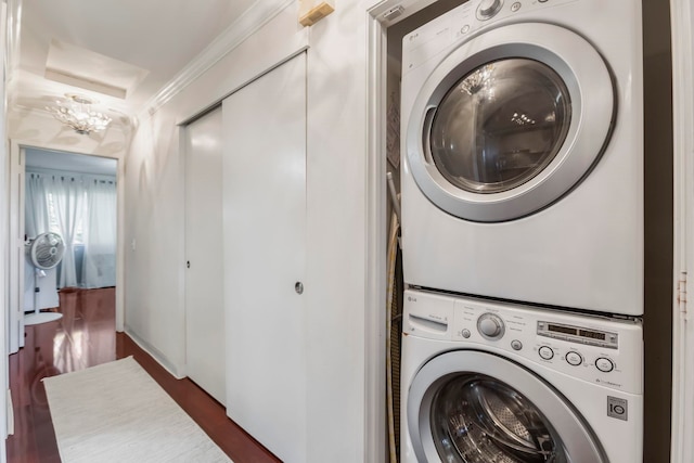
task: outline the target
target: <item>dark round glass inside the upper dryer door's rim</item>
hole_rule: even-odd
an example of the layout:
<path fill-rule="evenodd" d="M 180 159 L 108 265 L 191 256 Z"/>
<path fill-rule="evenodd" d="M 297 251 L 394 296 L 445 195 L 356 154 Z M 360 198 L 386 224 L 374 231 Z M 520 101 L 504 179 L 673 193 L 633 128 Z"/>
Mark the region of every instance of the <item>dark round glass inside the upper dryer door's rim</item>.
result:
<path fill-rule="evenodd" d="M 535 60 L 484 64 L 444 97 L 428 149 L 444 178 L 472 193 L 512 190 L 540 173 L 566 141 L 570 94 Z"/>

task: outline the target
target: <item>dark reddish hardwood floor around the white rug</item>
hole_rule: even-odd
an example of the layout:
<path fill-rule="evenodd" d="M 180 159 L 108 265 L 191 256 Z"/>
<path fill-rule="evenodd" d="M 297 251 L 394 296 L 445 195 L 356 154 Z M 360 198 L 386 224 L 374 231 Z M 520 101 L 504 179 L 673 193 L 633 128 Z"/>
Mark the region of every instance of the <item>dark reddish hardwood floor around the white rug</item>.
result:
<path fill-rule="evenodd" d="M 115 332 L 114 288 L 61 291 L 60 305 L 63 318 L 26 326 L 24 347 L 10 356 L 14 435 L 7 441 L 8 462 L 61 461 L 41 378 L 128 356 L 133 356 L 234 463 L 280 461 L 229 420 L 224 408 L 195 383 L 176 380 L 126 334 Z"/>

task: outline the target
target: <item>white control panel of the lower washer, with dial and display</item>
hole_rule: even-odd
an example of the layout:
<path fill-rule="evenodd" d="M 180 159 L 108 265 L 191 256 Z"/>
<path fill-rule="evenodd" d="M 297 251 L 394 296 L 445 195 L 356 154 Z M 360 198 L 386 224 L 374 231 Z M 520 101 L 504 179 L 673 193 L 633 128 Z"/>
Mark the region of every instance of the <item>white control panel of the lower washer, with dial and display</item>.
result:
<path fill-rule="evenodd" d="M 642 393 L 640 321 L 406 291 L 403 334 L 523 358 L 613 389 Z"/>

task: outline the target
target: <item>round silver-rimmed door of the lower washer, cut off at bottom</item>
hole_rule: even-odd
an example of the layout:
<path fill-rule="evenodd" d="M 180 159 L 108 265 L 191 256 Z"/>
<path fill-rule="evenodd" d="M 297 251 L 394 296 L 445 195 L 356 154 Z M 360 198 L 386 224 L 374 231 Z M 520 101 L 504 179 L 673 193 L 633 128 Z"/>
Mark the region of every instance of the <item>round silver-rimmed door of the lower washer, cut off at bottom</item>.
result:
<path fill-rule="evenodd" d="M 558 391 L 491 353 L 457 350 L 434 358 L 414 377 L 407 410 L 421 462 L 607 461 Z"/>

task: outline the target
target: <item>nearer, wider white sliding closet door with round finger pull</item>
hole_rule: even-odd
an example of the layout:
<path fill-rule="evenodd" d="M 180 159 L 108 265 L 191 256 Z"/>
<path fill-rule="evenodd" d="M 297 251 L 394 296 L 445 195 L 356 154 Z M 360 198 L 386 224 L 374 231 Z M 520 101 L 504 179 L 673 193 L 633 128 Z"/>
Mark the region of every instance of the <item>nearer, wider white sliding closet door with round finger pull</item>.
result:
<path fill-rule="evenodd" d="M 222 106 L 227 414 L 305 462 L 306 54 Z"/>

